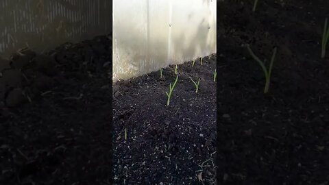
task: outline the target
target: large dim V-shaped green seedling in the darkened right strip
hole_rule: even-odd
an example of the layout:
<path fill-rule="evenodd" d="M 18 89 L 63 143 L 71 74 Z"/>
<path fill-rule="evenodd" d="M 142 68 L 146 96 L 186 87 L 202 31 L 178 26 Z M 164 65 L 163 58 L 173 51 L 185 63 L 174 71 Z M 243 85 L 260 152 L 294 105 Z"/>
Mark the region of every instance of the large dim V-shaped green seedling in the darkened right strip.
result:
<path fill-rule="evenodd" d="M 252 52 L 252 49 L 250 49 L 249 45 L 247 45 L 247 49 L 250 53 L 250 55 L 252 55 L 252 58 L 254 58 L 254 60 L 256 60 L 256 62 L 258 62 L 258 64 L 260 64 L 260 66 L 262 67 L 264 74 L 265 74 L 265 88 L 264 88 L 264 93 L 266 94 L 267 92 L 269 92 L 269 83 L 271 82 L 271 71 L 272 71 L 272 67 L 273 67 L 273 62 L 274 59 L 276 58 L 276 47 L 273 49 L 273 56 L 271 58 L 271 63 L 269 64 L 269 69 L 267 70 L 264 62 L 262 62 L 255 54 L 254 52 Z"/>

